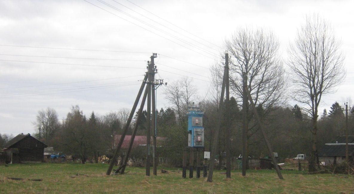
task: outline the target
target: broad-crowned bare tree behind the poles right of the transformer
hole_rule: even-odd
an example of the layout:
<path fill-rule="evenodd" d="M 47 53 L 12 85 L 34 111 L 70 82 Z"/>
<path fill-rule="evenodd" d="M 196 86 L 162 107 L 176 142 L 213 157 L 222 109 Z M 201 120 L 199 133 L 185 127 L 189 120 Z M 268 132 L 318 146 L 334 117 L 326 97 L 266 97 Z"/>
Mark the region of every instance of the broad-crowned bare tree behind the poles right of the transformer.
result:
<path fill-rule="evenodd" d="M 260 110 L 262 109 L 262 115 L 266 115 L 283 99 L 286 84 L 285 70 L 278 52 L 279 42 L 274 33 L 264 29 L 240 28 L 225 41 L 225 48 L 231 56 L 230 90 L 234 92 L 236 100 L 242 102 L 242 74 L 246 73 L 247 87 L 253 101 Z M 245 108 L 248 115 L 245 123 L 248 142 L 258 128 L 255 127 L 255 122 L 251 123 L 253 114 L 248 104 Z"/>

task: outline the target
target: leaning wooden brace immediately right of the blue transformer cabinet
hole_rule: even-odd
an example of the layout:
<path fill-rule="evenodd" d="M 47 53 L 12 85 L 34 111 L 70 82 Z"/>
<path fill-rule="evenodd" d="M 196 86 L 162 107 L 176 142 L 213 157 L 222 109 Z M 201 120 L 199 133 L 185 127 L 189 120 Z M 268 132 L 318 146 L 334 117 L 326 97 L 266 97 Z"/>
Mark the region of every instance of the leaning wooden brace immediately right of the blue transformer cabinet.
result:
<path fill-rule="evenodd" d="M 213 182 L 213 170 L 214 170 L 214 163 L 215 163 L 215 155 L 217 152 L 218 148 L 218 140 L 219 140 L 219 131 L 221 127 L 221 119 L 222 119 L 222 114 L 223 114 L 223 102 L 224 102 L 224 93 L 225 93 L 225 74 L 226 74 L 226 67 L 224 68 L 224 76 L 223 76 L 223 81 L 222 81 L 222 86 L 221 86 L 221 95 L 220 95 L 220 102 L 219 102 L 219 110 L 218 110 L 218 126 L 215 129 L 214 132 L 214 138 L 213 138 L 213 144 L 212 144 L 212 150 L 210 153 L 210 164 L 209 164 L 209 174 L 208 174 L 208 182 Z M 219 156 L 220 158 L 220 156 Z"/>

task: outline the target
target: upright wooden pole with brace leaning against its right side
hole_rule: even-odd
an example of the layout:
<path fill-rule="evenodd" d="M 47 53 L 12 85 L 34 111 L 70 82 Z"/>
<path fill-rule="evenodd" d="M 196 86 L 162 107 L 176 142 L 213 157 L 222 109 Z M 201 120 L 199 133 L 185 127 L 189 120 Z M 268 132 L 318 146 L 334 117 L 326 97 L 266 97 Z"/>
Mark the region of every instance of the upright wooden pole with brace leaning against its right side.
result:
<path fill-rule="evenodd" d="M 248 108 L 248 99 L 247 99 L 247 74 L 242 72 L 242 176 L 246 176 L 246 149 L 247 149 L 247 108 Z"/>

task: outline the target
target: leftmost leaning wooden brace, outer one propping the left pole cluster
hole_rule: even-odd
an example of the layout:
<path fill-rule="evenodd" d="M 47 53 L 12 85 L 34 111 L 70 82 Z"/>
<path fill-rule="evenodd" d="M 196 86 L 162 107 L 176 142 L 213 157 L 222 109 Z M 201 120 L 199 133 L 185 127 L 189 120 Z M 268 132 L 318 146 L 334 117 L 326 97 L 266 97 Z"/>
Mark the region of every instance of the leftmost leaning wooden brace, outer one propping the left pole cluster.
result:
<path fill-rule="evenodd" d="M 120 137 L 120 140 L 119 140 L 119 143 L 118 143 L 118 146 L 116 148 L 116 150 L 114 151 L 114 154 L 113 154 L 113 158 L 112 158 L 112 161 L 111 163 L 109 164 L 109 167 L 108 167 L 108 170 L 106 172 L 106 175 L 110 175 L 112 169 L 113 169 L 113 165 L 115 164 L 115 161 L 117 160 L 117 157 L 118 157 L 118 153 L 119 153 L 119 150 L 123 144 L 123 140 L 125 138 L 125 135 L 127 134 L 128 132 L 128 129 L 129 129 L 129 125 L 130 125 L 130 122 L 131 120 L 133 119 L 133 116 L 135 114 L 135 110 L 136 110 L 136 107 L 138 105 L 138 102 L 139 102 L 139 99 L 141 97 L 141 94 L 143 93 L 143 90 L 144 90 L 144 87 L 145 87 L 145 83 L 146 83 L 146 80 L 148 79 L 148 73 L 145 74 L 145 77 L 144 77 L 144 80 L 143 80 L 143 83 L 141 84 L 140 86 L 140 90 L 138 92 L 138 95 L 135 99 L 135 102 L 134 102 L 134 105 L 133 105 L 133 108 L 132 110 L 130 111 L 130 115 L 128 117 L 128 120 L 124 126 L 124 131 L 123 131 L 123 134 L 121 135 Z"/>

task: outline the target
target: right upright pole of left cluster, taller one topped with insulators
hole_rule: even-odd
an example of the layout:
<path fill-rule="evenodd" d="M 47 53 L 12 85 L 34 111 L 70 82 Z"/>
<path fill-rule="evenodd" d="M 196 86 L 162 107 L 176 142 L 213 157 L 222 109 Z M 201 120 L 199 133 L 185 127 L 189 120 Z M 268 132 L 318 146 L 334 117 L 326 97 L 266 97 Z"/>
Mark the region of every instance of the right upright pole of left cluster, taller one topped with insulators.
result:
<path fill-rule="evenodd" d="M 152 128 L 154 131 L 154 136 L 153 136 L 153 174 L 156 176 L 157 175 L 157 157 L 156 157 L 156 99 L 155 99 L 155 63 L 154 63 L 154 59 L 157 57 L 155 56 L 156 54 L 153 54 L 150 57 L 151 60 L 151 66 L 153 67 L 153 71 L 152 71 L 152 82 L 151 82 L 151 87 L 152 87 Z"/>

